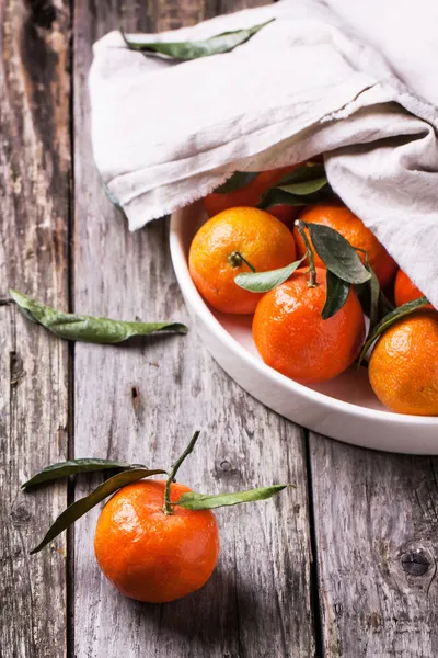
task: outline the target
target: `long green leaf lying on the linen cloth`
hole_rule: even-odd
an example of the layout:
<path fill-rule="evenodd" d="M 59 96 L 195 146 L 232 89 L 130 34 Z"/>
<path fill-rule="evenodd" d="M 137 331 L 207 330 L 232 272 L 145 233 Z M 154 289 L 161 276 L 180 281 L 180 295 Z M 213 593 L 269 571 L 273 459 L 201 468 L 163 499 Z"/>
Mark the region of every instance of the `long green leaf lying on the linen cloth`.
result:
<path fill-rule="evenodd" d="M 247 30 L 237 30 L 234 32 L 223 32 L 217 34 L 211 38 L 198 42 L 146 42 L 139 38 L 130 41 L 124 32 L 122 36 L 125 39 L 126 45 L 131 50 L 141 50 L 141 53 L 158 53 L 160 55 L 166 55 L 173 59 L 188 60 L 198 59 L 199 57 L 209 57 L 210 55 L 220 55 L 222 53 L 230 53 L 237 46 L 247 42 L 254 34 L 256 34 L 262 27 L 272 23 L 274 19 L 262 23 L 261 25 L 254 25 Z"/>

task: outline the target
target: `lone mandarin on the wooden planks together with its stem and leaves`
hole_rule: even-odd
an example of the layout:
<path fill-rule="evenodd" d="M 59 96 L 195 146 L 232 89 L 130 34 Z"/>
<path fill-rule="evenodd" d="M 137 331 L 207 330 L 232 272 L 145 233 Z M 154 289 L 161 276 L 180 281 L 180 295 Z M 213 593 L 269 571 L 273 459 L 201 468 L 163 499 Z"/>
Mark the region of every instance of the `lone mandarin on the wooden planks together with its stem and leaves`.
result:
<path fill-rule="evenodd" d="M 245 491 L 195 494 L 175 477 L 199 436 L 196 431 L 170 473 L 112 460 L 82 458 L 51 464 L 24 483 L 35 487 L 78 473 L 122 469 L 94 491 L 70 504 L 55 520 L 38 553 L 64 530 L 114 494 L 97 521 L 94 552 L 104 575 L 124 594 L 149 603 L 165 603 L 198 590 L 208 580 L 219 555 L 219 533 L 210 510 L 266 500 L 292 485 Z M 147 480 L 168 474 L 168 479 Z"/>

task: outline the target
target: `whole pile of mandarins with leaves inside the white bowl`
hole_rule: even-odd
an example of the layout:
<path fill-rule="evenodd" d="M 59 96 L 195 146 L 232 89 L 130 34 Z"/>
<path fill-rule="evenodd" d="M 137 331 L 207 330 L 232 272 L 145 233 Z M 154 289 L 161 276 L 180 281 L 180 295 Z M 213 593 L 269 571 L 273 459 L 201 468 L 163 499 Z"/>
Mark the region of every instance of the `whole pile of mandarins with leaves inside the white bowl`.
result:
<path fill-rule="evenodd" d="M 321 169 L 241 173 L 241 184 L 207 196 L 210 218 L 189 250 L 193 281 L 215 309 L 254 314 L 255 345 L 281 374 L 324 382 L 368 358 L 383 405 L 437 416 L 438 313 Z"/>

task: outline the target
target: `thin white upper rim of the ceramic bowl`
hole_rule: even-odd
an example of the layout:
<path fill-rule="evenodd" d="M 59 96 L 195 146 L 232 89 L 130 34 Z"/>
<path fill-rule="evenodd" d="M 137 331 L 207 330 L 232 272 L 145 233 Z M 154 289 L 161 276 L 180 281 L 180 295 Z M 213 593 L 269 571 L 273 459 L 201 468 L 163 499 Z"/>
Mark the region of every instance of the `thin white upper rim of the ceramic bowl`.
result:
<path fill-rule="evenodd" d="M 286 375 L 278 373 L 263 361 L 255 359 L 243 345 L 239 343 L 228 331 L 222 327 L 219 320 L 214 316 L 203 297 L 198 293 L 187 266 L 187 258 L 183 245 L 183 222 L 184 214 L 188 207 L 176 211 L 171 216 L 170 225 L 170 250 L 173 261 L 173 266 L 180 284 L 182 285 L 185 295 L 191 297 L 191 303 L 196 313 L 201 315 L 210 331 L 216 334 L 218 340 L 226 343 L 242 361 L 250 363 L 262 375 L 270 377 L 280 386 L 289 388 L 291 393 L 306 397 L 309 401 L 322 404 L 325 407 L 331 407 L 337 411 L 354 415 L 358 418 L 374 418 L 376 420 L 388 421 L 393 424 L 401 426 L 427 426 L 436 427 L 438 430 L 438 417 L 436 416 L 414 416 L 410 413 L 394 413 L 393 411 L 384 411 L 382 409 L 372 409 L 371 407 L 361 407 L 353 402 L 333 398 L 330 395 L 313 390 L 304 384 L 299 384 Z"/>

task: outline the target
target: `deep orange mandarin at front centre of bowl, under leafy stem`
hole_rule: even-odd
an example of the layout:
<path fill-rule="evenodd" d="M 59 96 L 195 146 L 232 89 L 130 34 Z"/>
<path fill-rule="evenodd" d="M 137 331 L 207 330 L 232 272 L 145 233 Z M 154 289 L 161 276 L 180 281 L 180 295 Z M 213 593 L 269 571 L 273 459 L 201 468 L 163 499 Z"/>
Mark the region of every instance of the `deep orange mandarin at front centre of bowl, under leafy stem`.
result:
<path fill-rule="evenodd" d="M 326 270 L 316 268 L 315 287 L 307 270 L 266 293 L 253 320 L 255 345 L 265 363 L 284 375 L 311 384 L 336 377 L 359 353 L 364 313 L 351 290 L 343 308 L 323 320 Z"/>

